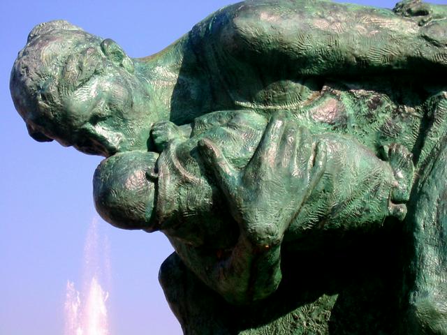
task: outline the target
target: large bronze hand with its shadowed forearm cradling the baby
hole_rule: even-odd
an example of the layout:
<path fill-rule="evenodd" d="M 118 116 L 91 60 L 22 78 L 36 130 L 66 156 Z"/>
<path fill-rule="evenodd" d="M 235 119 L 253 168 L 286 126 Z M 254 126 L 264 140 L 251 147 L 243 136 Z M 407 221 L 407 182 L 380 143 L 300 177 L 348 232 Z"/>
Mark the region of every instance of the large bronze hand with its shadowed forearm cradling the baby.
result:
<path fill-rule="evenodd" d="M 279 113 L 242 171 L 210 140 L 200 140 L 199 150 L 228 201 L 240 236 L 225 250 L 170 241 L 186 265 L 228 301 L 244 304 L 268 297 L 281 281 L 282 237 L 323 174 L 325 151 L 318 151 L 308 132 Z"/>

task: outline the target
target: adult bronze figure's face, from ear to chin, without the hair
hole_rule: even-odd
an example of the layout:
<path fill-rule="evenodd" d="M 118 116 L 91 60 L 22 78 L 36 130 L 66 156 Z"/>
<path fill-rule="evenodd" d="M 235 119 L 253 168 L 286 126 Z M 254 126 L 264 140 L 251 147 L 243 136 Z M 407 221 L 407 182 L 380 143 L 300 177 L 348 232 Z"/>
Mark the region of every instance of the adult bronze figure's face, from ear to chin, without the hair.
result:
<path fill-rule="evenodd" d="M 80 45 L 60 70 L 60 124 L 52 137 L 87 154 L 146 149 L 147 94 L 131 59 L 111 40 Z"/>

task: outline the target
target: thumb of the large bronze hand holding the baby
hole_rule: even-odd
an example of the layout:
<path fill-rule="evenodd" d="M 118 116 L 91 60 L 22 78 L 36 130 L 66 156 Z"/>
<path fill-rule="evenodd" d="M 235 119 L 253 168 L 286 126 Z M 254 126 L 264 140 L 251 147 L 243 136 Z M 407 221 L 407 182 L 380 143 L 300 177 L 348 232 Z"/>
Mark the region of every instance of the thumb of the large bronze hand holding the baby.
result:
<path fill-rule="evenodd" d="M 207 138 L 199 140 L 197 147 L 205 168 L 212 171 L 217 183 L 223 186 L 222 191 L 230 192 L 230 186 L 234 184 L 232 181 L 237 178 L 235 168 L 211 140 Z"/>

